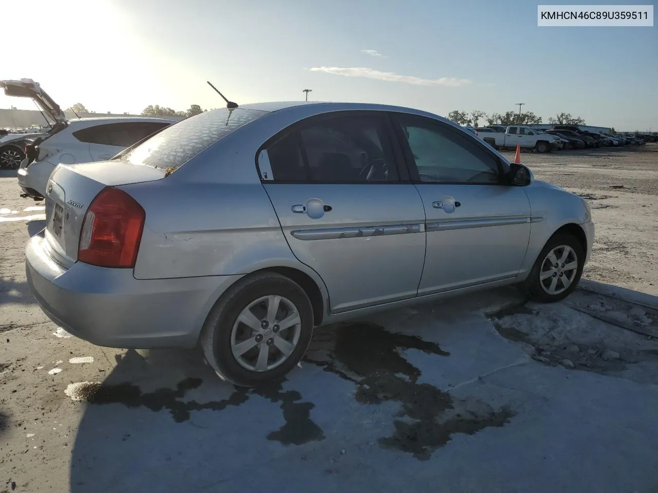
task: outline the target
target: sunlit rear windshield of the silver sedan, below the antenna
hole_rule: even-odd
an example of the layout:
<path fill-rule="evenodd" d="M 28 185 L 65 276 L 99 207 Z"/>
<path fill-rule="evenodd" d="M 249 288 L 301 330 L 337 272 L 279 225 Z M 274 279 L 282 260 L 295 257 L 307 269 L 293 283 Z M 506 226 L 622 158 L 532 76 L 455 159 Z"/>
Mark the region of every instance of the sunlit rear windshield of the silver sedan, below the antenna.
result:
<path fill-rule="evenodd" d="M 165 128 L 131 149 L 122 159 L 172 172 L 236 128 L 265 114 L 241 108 L 207 111 Z"/>

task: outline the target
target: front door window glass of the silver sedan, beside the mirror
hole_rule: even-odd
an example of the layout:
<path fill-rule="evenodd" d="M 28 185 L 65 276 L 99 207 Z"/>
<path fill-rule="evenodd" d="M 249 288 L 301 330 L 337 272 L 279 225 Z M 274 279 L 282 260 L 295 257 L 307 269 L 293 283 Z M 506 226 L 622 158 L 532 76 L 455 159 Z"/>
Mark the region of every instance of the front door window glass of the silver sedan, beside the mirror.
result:
<path fill-rule="evenodd" d="M 499 183 L 497 161 L 469 137 L 420 118 L 400 125 L 421 182 Z"/>

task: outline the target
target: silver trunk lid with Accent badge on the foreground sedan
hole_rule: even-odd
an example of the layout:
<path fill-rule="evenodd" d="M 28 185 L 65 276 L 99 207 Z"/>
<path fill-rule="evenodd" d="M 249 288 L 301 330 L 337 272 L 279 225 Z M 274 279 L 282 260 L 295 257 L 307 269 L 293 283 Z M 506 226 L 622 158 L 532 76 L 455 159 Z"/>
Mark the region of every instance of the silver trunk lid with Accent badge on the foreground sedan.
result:
<path fill-rule="evenodd" d="M 50 256 L 66 268 L 78 260 L 85 214 L 103 188 L 157 181 L 164 176 L 163 170 L 122 160 L 59 164 L 46 185 L 44 234 Z"/>

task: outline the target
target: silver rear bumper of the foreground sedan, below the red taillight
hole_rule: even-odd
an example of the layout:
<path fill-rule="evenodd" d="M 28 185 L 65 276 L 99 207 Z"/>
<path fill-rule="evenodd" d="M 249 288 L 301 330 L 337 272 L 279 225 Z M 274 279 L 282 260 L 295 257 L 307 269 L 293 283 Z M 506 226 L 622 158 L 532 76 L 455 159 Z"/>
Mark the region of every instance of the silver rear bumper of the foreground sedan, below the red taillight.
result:
<path fill-rule="evenodd" d="M 192 347 L 217 298 L 240 275 L 139 280 L 131 269 L 76 262 L 69 269 L 32 237 L 26 248 L 28 285 L 57 325 L 98 346 Z"/>

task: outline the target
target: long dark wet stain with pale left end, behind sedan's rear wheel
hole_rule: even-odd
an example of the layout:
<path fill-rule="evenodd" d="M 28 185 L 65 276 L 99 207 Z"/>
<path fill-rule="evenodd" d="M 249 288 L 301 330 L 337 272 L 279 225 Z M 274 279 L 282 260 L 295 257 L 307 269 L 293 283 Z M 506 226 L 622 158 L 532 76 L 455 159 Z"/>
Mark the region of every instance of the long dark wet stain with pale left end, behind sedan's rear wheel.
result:
<path fill-rule="evenodd" d="M 213 410 L 221 411 L 228 406 L 240 406 L 249 399 L 247 389 L 238 388 L 228 399 L 199 403 L 194 400 L 181 401 L 188 390 L 197 388 L 202 380 L 187 378 L 176 385 L 176 389 L 159 388 L 153 392 L 141 392 L 139 387 L 132 383 L 119 383 L 106 385 L 100 382 L 83 382 L 74 384 L 76 387 L 67 389 L 67 394 L 73 400 L 88 402 L 89 404 L 123 404 L 127 408 L 144 406 L 151 411 L 168 410 L 176 423 L 190 419 L 191 411 Z M 70 387 L 70 386 L 69 386 Z"/>

